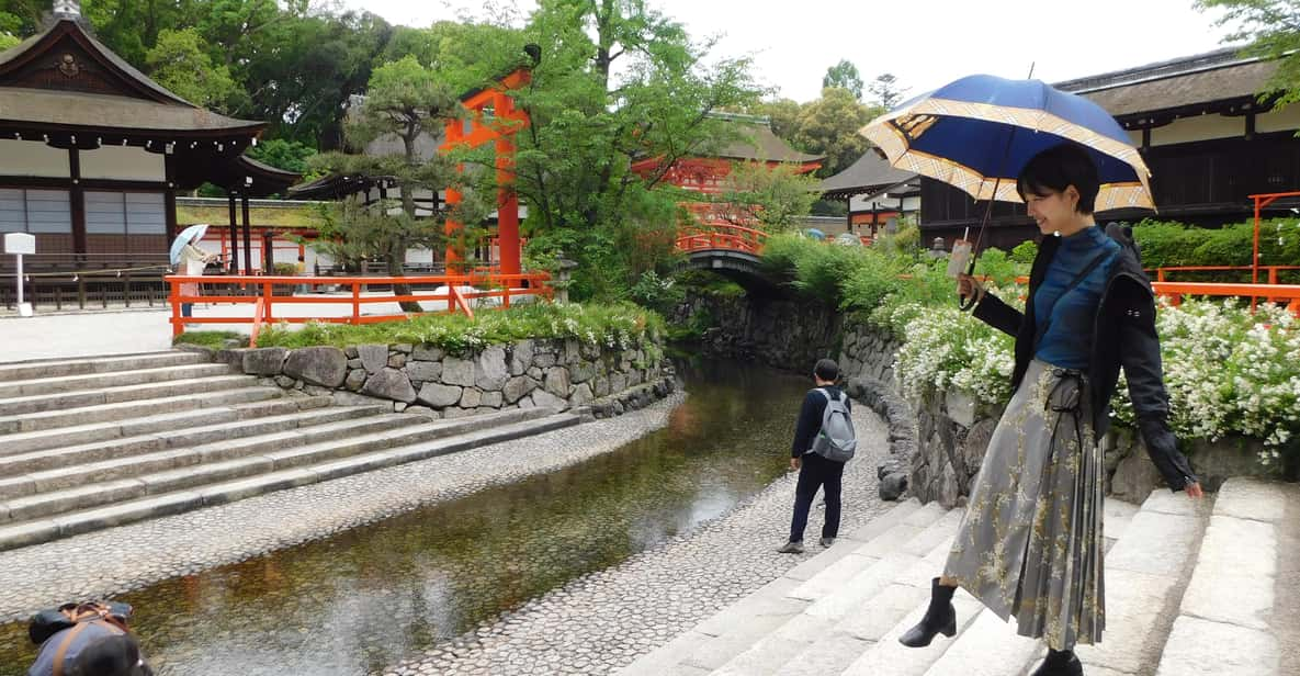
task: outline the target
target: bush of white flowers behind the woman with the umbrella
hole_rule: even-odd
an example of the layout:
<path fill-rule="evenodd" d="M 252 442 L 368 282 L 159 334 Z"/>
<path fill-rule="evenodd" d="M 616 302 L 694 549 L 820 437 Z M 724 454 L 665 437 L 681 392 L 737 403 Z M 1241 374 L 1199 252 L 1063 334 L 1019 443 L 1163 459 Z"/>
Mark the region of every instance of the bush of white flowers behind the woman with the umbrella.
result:
<path fill-rule="evenodd" d="M 983 403 L 1010 399 L 1010 337 L 945 307 L 881 308 L 872 320 L 904 339 L 894 374 L 906 396 L 952 387 Z M 1156 325 L 1175 433 L 1262 439 L 1265 463 L 1300 439 L 1300 321 L 1290 312 L 1264 304 L 1252 315 L 1235 302 L 1184 300 L 1162 303 Z M 1123 378 L 1112 415 L 1135 422 Z"/>

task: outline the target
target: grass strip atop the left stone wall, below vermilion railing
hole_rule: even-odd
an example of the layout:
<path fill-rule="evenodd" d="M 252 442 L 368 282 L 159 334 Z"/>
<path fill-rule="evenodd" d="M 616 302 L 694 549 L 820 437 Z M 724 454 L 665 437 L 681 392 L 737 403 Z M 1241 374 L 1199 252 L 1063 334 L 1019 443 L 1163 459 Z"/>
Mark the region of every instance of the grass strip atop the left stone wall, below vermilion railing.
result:
<path fill-rule="evenodd" d="M 308 324 L 302 330 L 273 326 L 257 338 L 260 347 L 348 347 L 356 344 L 432 344 L 451 354 L 529 338 L 572 338 L 607 348 L 632 348 L 658 343 L 664 321 L 655 312 L 632 303 L 577 304 L 540 303 L 504 309 L 481 309 L 471 320 L 464 315 L 424 315 L 410 321 L 352 326 Z"/>

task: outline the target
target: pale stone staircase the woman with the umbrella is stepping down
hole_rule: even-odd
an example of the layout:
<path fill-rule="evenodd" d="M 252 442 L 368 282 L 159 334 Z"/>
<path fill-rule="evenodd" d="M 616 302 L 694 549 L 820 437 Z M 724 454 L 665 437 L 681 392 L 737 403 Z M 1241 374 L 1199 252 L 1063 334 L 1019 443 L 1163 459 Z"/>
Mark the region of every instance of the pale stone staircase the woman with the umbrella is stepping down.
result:
<path fill-rule="evenodd" d="M 1157 490 L 1140 508 L 1105 508 L 1106 632 L 1078 647 L 1084 673 L 1300 673 L 1295 614 L 1275 601 L 1300 569 L 1300 486 L 1234 478 L 1200 504 Z M 965 590 L 954 638 L 898 644 L 924 614 L 959 519 L 904 502 L 619 673 L 1024 676 L 1041 642 Z"/>

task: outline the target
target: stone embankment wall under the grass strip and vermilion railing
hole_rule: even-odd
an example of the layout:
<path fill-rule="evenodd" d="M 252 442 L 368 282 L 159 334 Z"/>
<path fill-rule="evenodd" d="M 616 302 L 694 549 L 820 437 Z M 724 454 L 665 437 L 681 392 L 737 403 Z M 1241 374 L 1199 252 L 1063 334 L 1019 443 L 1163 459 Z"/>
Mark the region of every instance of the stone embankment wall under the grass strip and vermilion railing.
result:
<path fill-rule="evenodd" d="M 330 394 L 344 404 L 389 400 L 394 411 L 448 419 L 540 406 L 607 417 L 676 390 L 672 367 L 659 352 L 530 339 L 467 355 L 433 346 L 363 344 L 222 350 L 216 358 L 264 384 Z"/>

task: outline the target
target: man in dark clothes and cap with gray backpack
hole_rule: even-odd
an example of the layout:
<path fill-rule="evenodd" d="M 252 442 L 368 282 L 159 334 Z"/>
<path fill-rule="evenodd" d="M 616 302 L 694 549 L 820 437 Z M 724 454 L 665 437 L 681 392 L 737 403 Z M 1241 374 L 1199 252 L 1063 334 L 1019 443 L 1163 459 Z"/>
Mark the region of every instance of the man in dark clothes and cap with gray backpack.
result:
<path fill-rule="evenodd" d="M 790 469 L 800 472 L 794 489 L 794 519 L 790 521 L 790 540 L 777 550 L 781 554 L 803 552 L 803 529 L 819 488 L 826 493 L 822 546 L 829 547 L 840 532 L 840 480 L 844 476 L 844 463 L 853 458 L 857 441 L 849 417 L 849 396 L 835 385 L 838 377 L 840 367 L 835 361 L 818 361 L 812 369 L 816 387 L 803 396 L 794 429 L 794 445 L 790 447 Z"/>

